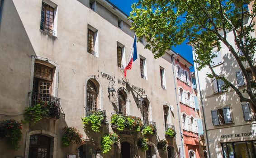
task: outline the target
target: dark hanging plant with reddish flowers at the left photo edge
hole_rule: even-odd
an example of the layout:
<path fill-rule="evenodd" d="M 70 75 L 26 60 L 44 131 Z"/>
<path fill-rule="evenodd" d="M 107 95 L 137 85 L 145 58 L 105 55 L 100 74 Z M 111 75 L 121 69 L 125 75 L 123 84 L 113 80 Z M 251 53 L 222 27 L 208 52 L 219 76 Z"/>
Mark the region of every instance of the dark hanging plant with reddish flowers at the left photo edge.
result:
<path fill-rule="evenodd" d="M 19 141 L 21 140 L 22 125 L 19 121 L 5 120 L 0 121 L 0 138 L 9 137 L 8 141 L 12 149 L 19 149 Z"/>

